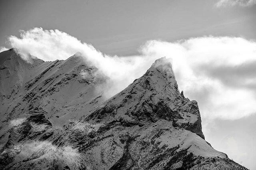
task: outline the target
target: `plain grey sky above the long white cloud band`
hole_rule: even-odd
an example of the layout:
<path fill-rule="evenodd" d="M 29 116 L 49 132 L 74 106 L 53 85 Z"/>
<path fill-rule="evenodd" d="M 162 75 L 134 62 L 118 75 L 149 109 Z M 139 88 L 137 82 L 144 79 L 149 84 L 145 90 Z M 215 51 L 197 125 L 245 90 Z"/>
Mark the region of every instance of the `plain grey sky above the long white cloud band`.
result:
<path fill-rule="evenodd" d="M 1 0 L 0 46 L 7 36 L 17 36 L 18 30 L 34 27 L 67 32 L 111 55 L 137 53 L 138 47 L 151 39 L 170 42 L 204 35 L 256 38 L 256 6 L 224 3 L 217 7 L 216 3 L 216 0 Z"/>

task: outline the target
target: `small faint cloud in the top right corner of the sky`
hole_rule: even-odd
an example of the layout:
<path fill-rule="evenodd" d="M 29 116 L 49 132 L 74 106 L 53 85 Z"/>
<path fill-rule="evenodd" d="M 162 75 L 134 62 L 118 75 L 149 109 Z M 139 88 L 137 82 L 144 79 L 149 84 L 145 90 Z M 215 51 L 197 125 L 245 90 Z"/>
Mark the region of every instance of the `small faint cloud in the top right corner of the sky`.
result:
<path fill-rule="evenodd" d="M 226 6 L 252 6 L 256 4 L 256 0 L 219 0 L 215 6 L 216 7 L 226 7 Z"/>

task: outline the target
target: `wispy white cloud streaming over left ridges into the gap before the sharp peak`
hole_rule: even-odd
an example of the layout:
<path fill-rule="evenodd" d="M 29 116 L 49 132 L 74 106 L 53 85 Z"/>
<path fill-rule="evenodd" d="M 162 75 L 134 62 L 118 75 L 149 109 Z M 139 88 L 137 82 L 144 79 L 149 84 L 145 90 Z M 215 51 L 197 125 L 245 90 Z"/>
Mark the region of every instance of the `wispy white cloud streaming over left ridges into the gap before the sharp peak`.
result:
<path fill-rule="evenodd" d="M 77 38 L 59 30 L 43 30 L 34 28 L 28 31 L 20 31 L 20 38 L 10 36 L 8 42 L 18 50 L 18 53 L 26 61 L 30 60 L 30 54 L 44 61 L 67 59 L 77 52 L 86 59 L 87 64 L 96 66 L 99 70 L 95 75 L 104 73 L 111 79 L 106 79 L 107 85 L 99 85 L 107 97 L 118 93 L 128 86 L 136 77 L 134 68 L 139 69 L 141 57 L 117 57 L 109 56 L 96 50 L 92 45 L 80 42 Z M 84 73 L 82 73 L 83 76 Z M 116 82 L 122 82 L 113 85 Z M 107 88 L 107 89 L 106 89 Z"/>

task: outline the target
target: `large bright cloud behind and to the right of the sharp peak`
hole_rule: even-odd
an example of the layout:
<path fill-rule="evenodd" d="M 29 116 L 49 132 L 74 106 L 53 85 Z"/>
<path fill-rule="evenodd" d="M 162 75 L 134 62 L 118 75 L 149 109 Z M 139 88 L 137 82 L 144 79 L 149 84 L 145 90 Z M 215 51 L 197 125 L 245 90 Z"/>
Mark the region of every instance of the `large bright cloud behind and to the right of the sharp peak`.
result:
<path fill-rule="evenodd" d="M 256 42 L 200 37 L 151 41 L 144 54 L 172 57 L 179 88 L 198 101 L 203 118 L 239 119 L 256 113 Z M 250 66 L 250 67 L 249 67 Z"/>

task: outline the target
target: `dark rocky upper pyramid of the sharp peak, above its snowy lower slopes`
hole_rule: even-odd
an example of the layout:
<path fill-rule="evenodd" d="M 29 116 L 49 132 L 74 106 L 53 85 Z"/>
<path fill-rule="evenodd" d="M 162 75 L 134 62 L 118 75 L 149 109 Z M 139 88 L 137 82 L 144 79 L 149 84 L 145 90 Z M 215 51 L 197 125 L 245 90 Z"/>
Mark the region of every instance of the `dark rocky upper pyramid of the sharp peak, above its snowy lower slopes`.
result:
<path fill-rule="evenodd" d="M 121 119 L 129 126 L 164 119 L 172 121 L 174 127 L 204 138 L 198 105 L 180 94 L 170 59 L 166 57 L 156 60 L 142 77 L 106 101 L 90 117 L 104 124 Z"/>

